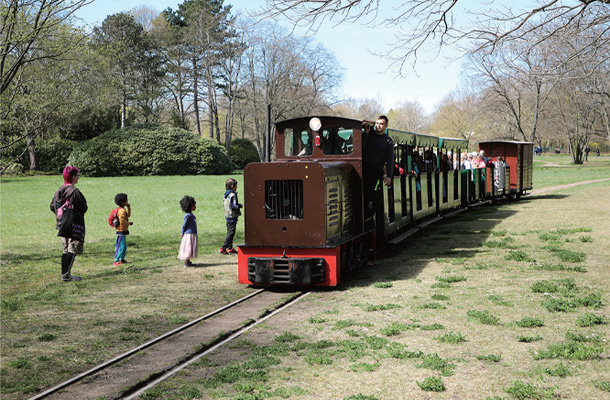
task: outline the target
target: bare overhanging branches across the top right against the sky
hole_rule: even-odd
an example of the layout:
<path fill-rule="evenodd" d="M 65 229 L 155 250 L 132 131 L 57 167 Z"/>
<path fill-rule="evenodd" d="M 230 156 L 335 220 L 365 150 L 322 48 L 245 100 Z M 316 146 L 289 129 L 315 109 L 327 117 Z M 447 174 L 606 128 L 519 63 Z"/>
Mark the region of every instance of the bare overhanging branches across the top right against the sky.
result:
<path fill-rule="evenodd" d="M 610 40 L 610 0 L 536 0 L 524 9 L 510 0 L 404 0 L 394 7 L 382 0 L 267 0 L 266 5 L 261 17 L 283 15 L 314 31 L 324 23 L 355 21 L 395 27 L 396 40 L 386 56 L 398 73 L 433 46 L 440 49 L 474 40 L 478 50 L 490 52 L 501 43 L 519 40 L 524 33 L 535 33 L 537 40 L 530 46 L 536 47 L 571 26 L 580 26 L 583 31 L 603 27 L 601 36 L 589 39 Z M 565 24 L 552 31 L 545 29 L 559 20 Z M 571 57 L 577 57 L 578 51 L 575 49 Z"/>

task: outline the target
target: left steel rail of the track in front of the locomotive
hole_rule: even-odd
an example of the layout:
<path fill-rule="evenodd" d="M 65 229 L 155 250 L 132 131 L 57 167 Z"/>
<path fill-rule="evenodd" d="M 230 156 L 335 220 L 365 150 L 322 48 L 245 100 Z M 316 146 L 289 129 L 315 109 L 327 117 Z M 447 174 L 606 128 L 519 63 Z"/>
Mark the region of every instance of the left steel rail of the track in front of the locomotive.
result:
<path fill-rule="evenodd" d="M 92 375 L 92 374 L 94 374 L 96 372 L 99 372 L 99 371 L 103 370 L 104 368 L 107 368 L 107 367 L 109 367 L 109 366 L 111 366 L 113 364 L 116 364 L 119 361 L 124 360 L 125 358 L 130 357 L 130 356 L 136 354 L 137 352 L 142 351 L 142 350 L 144 350 L 144 349 L 146 349 L 146 348 L 148 348 L 148 347 L 150 347 L 150 346 L 152 346 L 152 345 L 154 345 L 154 344 L 156 344 L 156 343 L 158 343 L 158 342 L 160 342 L 162 340 L 165 340 L 168 337 L 175 335 L 176 333 L 182 332 L 183 330 L 188 329 L 191 326 L 196 325 L 196 324 L 198 324 L 199 322 L 201 322 L 203 320 L 206 320 L 206 319 L 208 319 L 210 317 L 213 317 L 214 315 L 220 314 L 221 312 L 226 311 L 229 308 L 235 307 L 236 305 L 241 304 L 244 301 L 249 300 L 250 298 L 257 296 L 257 295 L 261 294 L 262 292 L 264 292 L 266 290 L 267 290 L 267 288 L 259 289 L 256 292 L 250 293 L 247 296 L 244 296 L 244 297 L 242 297 L 240 299 L 237 299 L 234 302 L 229 303 L 229 304 L 227 304 L 227 305 L 225 305 L 223 307 L 220 307 L 219 309 L 214 310 L 214 311 L 212 311 L 212 312 L 210 312 L 210 313 L 208 313 L 208 314 L 206 314 L 206 315 L 204 315 L 202 317 L 199 317 L 199 318 L 194 319 L 194 320 L 192 320 L 190 322 L 187 322 L 186 324 L 184 324 L 182 326 L 179 326 L 178 328 L 176 328 L 176 329 L 174 329 L 172 331 L 169 331 L 169 332 L 167 332 L 167 333 L 165 333 L 165 334 L 163 334 L 161 336 L 158 336 L 158 337 L 156 337 L 156 338 L 154 338 L 152 340 L 149 340 L 148 342 L 146 342 L 146 343 L 144 343 L 144 344 L 142 344 L 142 345 L 140 345 L 138 347 L 135 347 L 135 348 L 133 348 L 133 349 L 131 349 L 131 350 L 121 354 L 121 355 L 118 355 L 118 356 L 116 356 L 116 357 L 114 357 L 114 358 L 112 358 L 112 359 L 102 363 L 102 364 L 99 364 L 99 365 L 97 365 L 97 366 L 95 366 L 95 367 L 93 367 L 93 368 L 91 368 L 91 369 L 89 369 L 89 370 L 87 370 L 85 372 L 80 373 L 80 374 L 78 374 L 78 375 L 68 379 L 67 381 L 59 383 L 58 385 L 53 386 L 52 388 L 49 388 L 49 389 L 45 390 L 44 392 L 41 392 L 41 393 L 37 394 L 34 397 L 31 397 L 29 400 L 42 399 L 42 398 L 44 398 L 44 397 L 46 397 L 46 396 L 48 396 L 48 395 L 50 395 L 52 393 L 57 392 L 60 389 L 68 387 L 68 386 L 72 385 L 73 383 L 78 382 L 79 380 L 81 380 L 81 379 L 83 379 L 83 378 L 85 378 L 85 377 L 87 377 L 89 375 Z"/>

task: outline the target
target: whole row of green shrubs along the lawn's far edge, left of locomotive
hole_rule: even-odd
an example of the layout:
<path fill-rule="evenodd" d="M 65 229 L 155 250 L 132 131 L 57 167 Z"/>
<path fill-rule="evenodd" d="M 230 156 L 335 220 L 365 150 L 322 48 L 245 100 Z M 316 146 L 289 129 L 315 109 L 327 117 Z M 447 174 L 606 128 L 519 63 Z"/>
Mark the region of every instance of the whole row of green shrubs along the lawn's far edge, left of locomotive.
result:
<path fill-rule="evenodd" d="M 39 171 L 57 173 L 71 164 L 89 176 L 223 174 L 260 161 L 248 139 L 232 141 L 229 159 L 212 139 L 159 125 L 116 129 L 83 142 L 39 141 L 36 155 Z M 4 173 L 22 173 L 29 165 L 25 142 L 3 151 Z"/>

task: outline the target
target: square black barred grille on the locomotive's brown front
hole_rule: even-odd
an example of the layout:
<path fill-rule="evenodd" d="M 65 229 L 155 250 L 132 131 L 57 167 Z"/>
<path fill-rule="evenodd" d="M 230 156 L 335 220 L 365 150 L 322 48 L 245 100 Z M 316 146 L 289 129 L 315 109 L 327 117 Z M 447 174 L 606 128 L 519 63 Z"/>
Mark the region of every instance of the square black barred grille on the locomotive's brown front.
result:
<path fill-rule="evenodd" d="M 267 219 L 303 219 L 303 181 L 265 181 Z"/>

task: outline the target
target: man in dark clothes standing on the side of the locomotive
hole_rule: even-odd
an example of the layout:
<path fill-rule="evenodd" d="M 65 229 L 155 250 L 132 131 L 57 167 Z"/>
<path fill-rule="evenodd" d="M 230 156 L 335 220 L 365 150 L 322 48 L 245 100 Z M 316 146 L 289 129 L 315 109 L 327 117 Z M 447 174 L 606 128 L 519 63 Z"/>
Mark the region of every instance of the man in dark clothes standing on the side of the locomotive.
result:
<path fill-rule="evenodd" d="M 390 186 L 394 174 L 394 141 L 386 134 L 388 117 L 379 116 L 371 132 L 363 122 L 362 183 L 364 192 L 365 229 L 372 227 L 375 215 L 377 228 L 383 227 L 383 185 Z"/>

